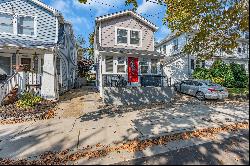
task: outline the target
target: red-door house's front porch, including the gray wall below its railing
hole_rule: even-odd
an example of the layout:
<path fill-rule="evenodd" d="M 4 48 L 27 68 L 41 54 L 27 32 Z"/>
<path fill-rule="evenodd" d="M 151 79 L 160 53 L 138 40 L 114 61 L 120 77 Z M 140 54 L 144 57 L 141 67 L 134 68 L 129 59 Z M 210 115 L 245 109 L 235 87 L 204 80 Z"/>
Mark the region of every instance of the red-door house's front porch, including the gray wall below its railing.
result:
<path fill-rule="evenodd" d="M 105 104 L 134 105 L 169 102 L 171 78 L 163 75 L 162 55 L 155 52 L 100 51 L 97 86 Z"/>

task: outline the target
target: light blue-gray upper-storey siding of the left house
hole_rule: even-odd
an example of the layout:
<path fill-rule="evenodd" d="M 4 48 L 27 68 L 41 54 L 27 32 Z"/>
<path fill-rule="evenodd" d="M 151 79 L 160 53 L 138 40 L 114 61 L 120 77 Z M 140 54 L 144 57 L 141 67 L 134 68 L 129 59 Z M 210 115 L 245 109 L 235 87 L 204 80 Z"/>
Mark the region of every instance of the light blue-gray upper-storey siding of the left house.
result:
<path fill-rule="evenodd" d="M 50 11 L 34 4 L 30 0 L 0 0 L 0 11 L 11 12 L 10 4 L 14 7 L 16 14 L 37 16 L 37 37 L 0 34 L 0 38 L 55 42 L 56 17 Z"/>

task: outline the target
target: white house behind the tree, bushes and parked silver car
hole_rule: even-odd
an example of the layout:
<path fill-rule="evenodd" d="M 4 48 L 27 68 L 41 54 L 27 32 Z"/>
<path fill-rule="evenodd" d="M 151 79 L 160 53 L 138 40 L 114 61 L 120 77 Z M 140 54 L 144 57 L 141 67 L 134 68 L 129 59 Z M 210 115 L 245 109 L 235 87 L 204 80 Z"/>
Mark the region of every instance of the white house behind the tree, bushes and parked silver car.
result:
<path fill-rule="evenodd" d="M 249 33 L 241 33 L 238 39 L 239 47 L 234 50 L 232 55 L 220 51 L 214 55 L 210 60 L 199 62 L 197 58 L 192 55 L 181 54 L 180 51 L 185 46 L 192 33 L 182 33 L 177 36 L 176 33 L 168 35 L 165 39 L 155 45 L 157 52 L 165 55 L 164 74 L 171 77 L 173 82 L 190 78 L 192 72 L 197 66 L 210 67 L 214 60 L 220 58 L 225 63 L 241 64 L 246 71 L 249 70 Z"/>

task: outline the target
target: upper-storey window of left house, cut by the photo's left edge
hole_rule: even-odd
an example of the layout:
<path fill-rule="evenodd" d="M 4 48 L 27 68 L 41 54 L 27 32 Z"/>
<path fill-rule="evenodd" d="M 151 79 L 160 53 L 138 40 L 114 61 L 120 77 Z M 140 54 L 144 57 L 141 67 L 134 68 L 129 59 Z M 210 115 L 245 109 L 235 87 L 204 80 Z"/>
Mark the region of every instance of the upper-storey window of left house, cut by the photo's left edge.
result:
<path fill-rule="evenodd" d="M 13 33 L 13 16 L 0 13 L 0 32 Z"/>

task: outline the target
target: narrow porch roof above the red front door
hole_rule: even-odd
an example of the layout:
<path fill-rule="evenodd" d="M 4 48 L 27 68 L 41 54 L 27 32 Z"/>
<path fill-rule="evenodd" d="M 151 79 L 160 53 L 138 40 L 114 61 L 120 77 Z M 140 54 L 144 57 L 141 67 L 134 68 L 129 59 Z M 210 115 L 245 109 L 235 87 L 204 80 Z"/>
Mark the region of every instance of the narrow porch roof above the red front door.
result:
<path fill-rule="evenodd" d="M 136 50 L 136 49 L 128 49 L 128 48 L 113 48 L 113 47 L 99 47 L 99 51 L 135 54 L 135 55 L 143 55 L 143 56 L 157 56 L 157 57 L 164 58 L 163 54 L 161 54 L 157 51 L 148 51 L 148 50 Z"/>

